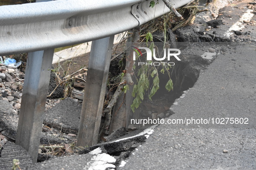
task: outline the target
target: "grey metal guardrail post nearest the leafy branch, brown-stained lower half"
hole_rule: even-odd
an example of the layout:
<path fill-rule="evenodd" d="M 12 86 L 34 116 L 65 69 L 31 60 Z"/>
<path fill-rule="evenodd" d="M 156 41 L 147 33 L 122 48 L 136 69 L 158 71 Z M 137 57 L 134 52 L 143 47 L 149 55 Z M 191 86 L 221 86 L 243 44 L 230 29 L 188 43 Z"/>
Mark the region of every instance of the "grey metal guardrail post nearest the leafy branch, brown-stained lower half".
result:
<path fill-rule="evenodd" d="M 114 35 L 92 41 L 77 146 L 98 142 Z"/>

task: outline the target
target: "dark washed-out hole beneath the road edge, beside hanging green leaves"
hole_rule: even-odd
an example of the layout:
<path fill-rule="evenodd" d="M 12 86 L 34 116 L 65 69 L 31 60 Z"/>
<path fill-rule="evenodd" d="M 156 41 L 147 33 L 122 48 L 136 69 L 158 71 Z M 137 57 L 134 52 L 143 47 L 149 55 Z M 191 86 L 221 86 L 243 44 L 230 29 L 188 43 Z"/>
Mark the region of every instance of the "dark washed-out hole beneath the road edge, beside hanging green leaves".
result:
<path fill-rule="evenodd" d="M 160 73 L 159 71 L 159 90 L 152 97 L 152 101 L 147 96 L 144 97 L 143 102 L 135 110 L 130 119 L 143 120 L 143 119 L 162 119 L 169 117 L 173 114 L 169 108 L 177 98 L 180 98 L 183 91 L 188 90 L 194 86 L 197 81 L 200 70 L 204 68 L 204 60 L 201 60 L 199 55 L 181 56 L 183 60 L 171 60 L 175 65 L 169 70 L 170 77 L 173 82 L 173 90 L 167 91 L 165 88 L 166 83 L 169 81 L 169 75 Z M 197 67 L 195 67 L 197 66 Z M 200 67 L 201 66 L 201 67 Z M 152 80 L 151 80 L 152 82 Z M 150 125 L 151 123 L 149 123 Z M 154 123 L 153 123 L 154 124 Z M 128 126 L 129 127 L 129 126 Z M 143 128 L 140 123 L 135 123 L 131 128 Z M 148 126 L 145 126 L 146 128 Z"/>

